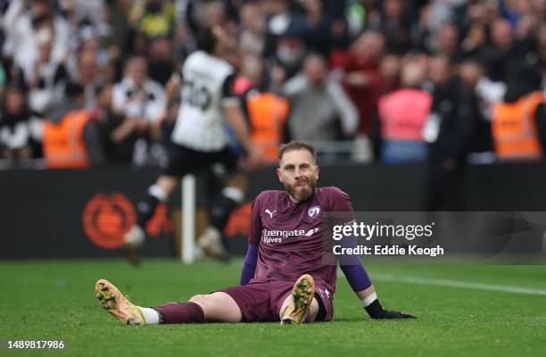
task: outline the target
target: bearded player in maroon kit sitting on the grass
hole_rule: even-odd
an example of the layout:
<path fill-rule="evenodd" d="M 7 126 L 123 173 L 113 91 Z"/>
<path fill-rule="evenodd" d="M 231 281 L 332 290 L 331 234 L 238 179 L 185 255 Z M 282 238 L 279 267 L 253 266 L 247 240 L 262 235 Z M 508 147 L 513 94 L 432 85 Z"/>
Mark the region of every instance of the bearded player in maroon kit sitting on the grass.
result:
<path fill-rule="evenodd" d="M 334 316 L 337 263 L 325 260 L 331 242 L 324 212 L 344 212 L 354 220 L 349 196 L 336 187 L 317 188 L 315 149 L 302 141 L 281 145 L 277 176 L 285 191 L 264 191 L 252 205 L 248 251 L 241 285 L 186 303 L 145 308 L 130 303 L 110 282 L 100 279 L 95 294 L 103 307 L 128 325 L 205 321 L 278 321 L 300 324 Z M 325 239 L 326 238 L 326 239 Z M 376 296 L 360 260 L 340 262 L 341 269 L 372 319 L 414 318 L 387 311 Z"/>

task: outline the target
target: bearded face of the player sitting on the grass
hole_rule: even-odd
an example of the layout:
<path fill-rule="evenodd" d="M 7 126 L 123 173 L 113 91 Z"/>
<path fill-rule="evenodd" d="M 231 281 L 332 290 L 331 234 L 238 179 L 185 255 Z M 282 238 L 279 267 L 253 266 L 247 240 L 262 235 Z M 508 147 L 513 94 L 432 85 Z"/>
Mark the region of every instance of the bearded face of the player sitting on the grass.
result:
<path fill-rule="evenodd" d="M 295 203 L 310 198 L 317 187 L 318 166 L 307 150 L 294 150 L 283 155 L 277 169 L 280 182 Z"/>

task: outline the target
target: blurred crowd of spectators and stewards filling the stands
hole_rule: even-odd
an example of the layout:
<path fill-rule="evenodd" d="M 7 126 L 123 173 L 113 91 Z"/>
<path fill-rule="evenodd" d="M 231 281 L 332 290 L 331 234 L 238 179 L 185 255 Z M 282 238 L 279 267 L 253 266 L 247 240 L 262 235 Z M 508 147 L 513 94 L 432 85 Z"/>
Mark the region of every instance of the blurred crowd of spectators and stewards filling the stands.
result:
<path fill-rule="evenodd" d="M 174 78 L 215 25 L 238 40 L 234 89 L 271 161 L 300 138 L 357 162 L 428 162 L 442 180 L 469 155 L 537 160 L 546 147 L 546 0 L 0 4 L 12 165 L 164 164 Z"/>

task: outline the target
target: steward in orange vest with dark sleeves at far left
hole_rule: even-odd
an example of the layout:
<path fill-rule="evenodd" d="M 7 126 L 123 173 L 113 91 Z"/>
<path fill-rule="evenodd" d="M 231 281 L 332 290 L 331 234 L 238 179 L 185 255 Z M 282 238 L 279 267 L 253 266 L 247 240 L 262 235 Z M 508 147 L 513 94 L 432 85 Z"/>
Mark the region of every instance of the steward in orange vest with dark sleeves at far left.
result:
<path fill-rule="evenodd" d="M 104 163 L 97 123 L 85 109 L 84 89 L 65 88 L 67 101 L 54 108 L 44 123 L 44 156 L 49 169 L 86 169 Z"/>

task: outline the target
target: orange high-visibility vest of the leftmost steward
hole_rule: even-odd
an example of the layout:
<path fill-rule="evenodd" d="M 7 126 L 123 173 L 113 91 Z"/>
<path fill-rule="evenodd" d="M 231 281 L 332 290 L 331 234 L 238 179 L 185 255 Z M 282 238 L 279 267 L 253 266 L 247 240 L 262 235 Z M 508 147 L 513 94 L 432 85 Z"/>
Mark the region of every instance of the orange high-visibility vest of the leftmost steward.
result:
<path fill-rule="evenodd" d="M 68 112 L 61 121 L 45 120 L 44 155 L 49 169 L 85 169 L 90 162 L 83 130 L 89 119 L 85 110 Z"/>

